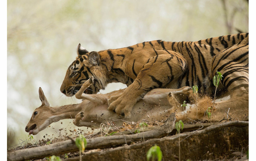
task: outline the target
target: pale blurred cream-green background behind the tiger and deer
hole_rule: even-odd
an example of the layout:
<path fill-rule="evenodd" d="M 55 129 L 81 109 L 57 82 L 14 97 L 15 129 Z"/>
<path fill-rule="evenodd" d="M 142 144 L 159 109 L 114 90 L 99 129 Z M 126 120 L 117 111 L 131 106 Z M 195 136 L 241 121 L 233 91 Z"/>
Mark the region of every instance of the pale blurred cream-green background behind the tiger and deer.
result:
<path fill-rule="evenodd" d="M 67 68 L 76 58 L 78 43 L 88 51 L 99 51 L 157 39 L 197 41 L 238 33 L 237 29 L 249 32 L 248 8 L 247 0 L 8 0 L 9 146 L 27 137 L 25 126 L 41 105 L 39 87 L 51 106 L 81 102 L 59 91 Z M 107 92 L 124 87 L 112 84 Z M 60 122 L 34 139 L 45 134 L 52 138 L 60 128 L 77 128 L 69 123 L 71 119 Z"/>

